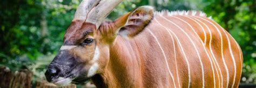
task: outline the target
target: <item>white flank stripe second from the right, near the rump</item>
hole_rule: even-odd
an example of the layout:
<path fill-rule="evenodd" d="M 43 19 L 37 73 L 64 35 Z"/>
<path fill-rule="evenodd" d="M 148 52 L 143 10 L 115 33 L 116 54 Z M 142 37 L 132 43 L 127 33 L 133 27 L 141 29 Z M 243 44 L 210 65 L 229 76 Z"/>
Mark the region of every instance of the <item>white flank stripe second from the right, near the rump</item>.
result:
<path fill-rule="evenodd" d="M 198 18 L 201 18 L 201 17 L 198 17 Z M 219 31 L 219 28 L 218 28 L 217 26 L 215 26 L 213 23 L 211 23 L 210 21 L 208 21 L 208 20 L 206 20 L 206 19 L 204 19 L 204 18 L 201 18 L 201 19 L 203 19 L 203 20 L 207 21 L 208 23 L 212 24 L 212 25 L 217 29 L 218 33 L 220 34 L 220 41 L 221 41 L 221 58 L 222 58 L 222 60 L 223 60 L 224 67 L 225 67 L 225 69 L 226 69 L 226 73 L 227 73 L 227 86 L 228 86 L 228 83 L 229 83 L 229 80 L 230 80 L 230 75 L 229 75 L 229 73 L 228 73 L 227 64 L 226 64 L 226 62 L 225 62 L 225 60 L 224 60 L 224 54 L 223 54 L 223 38 L 222 38 L 222 35 L 221 35 L 221 33 L 220 33 L 220 31 Z M 216 61 L 216 62 L 217 62 L 217 61 Z M 217 63 L 218 63 L 218 62 L 217 62 Z M 220 71 L 220 76 L 221 76 L 221 86 L 223 87 L 223 77 L 222 77 L 221 71 Z"/>

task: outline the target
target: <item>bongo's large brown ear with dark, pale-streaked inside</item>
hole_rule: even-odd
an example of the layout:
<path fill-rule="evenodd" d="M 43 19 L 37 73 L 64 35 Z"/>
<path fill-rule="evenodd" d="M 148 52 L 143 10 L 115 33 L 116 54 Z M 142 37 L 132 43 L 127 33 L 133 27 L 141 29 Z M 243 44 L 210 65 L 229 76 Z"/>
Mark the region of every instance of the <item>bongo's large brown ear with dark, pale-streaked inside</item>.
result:
<path fill-rule="evenodd" d="M 150 23 L 153 19 L 154 8 L 152 6 L 140 6 L 133 11 L 124 14 L 114 21 L 114 24 L 119 27 L 118 35 L 124 38 L 133 38 Z"/>

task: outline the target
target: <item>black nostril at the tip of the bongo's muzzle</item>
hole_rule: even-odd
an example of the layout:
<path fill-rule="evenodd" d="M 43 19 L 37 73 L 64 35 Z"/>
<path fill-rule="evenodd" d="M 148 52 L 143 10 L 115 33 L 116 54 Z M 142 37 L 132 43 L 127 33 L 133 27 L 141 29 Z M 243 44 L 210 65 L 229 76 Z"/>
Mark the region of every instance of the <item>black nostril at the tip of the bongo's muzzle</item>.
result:
<path fill-rule="evenodd" d="M 46 79 L 48 80 L 48 82 L 51 82 L 51 80 L 53 78 L 55 78 L 57 75 L 58 75 L 58 70 L 56 70 L 54 68 L 49 68 L 45 72 L 45 76 L 46 76 Z"/>

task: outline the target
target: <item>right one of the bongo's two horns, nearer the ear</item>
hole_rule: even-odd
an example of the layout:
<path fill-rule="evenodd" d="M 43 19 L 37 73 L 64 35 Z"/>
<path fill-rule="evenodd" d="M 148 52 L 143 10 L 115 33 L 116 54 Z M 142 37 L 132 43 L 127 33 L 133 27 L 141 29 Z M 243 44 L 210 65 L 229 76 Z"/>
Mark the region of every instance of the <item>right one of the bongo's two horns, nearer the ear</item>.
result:
<path fill-rule="evenodd" d="M 99 4 L 89 12 L 86 22 L 95 24 L 98 28 L 107 15 L 119 4 L 122 0 L 102 0 Z"/>

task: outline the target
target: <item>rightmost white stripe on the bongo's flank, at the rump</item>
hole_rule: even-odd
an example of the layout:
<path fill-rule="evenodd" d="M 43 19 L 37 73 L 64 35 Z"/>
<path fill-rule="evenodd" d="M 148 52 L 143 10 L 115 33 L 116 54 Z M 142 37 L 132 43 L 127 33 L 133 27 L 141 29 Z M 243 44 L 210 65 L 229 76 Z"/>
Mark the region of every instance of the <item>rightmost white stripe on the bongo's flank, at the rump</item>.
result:
<path fill-rule="evenodd" d="M 218 26 L 221 28 L 221 30 L 225 33 L 226 37 L 227 37 L 227 42 L 228 42 L 228 48 L 230 49 L 230 55 L 231 55 L 231 58 L 232 58 L 232 61 L 233 61 L 233 64 L 234 64 L 234 78 L 233 78 L 233 84 L 231 87 L 234 86 L 234 83 L 235 83 L 235 77 L 237 75 L 237 64 L 235 64 L 235 58 L 234 58 L 234 54 L 233 54 L 233 51 L 232 51 L 232 48 L 231 48 L 231 43 L 230 43 L 230 39 L 229 37 L 227 36 L 227 33 L 224 31 L 224 29 L 218 24 Z M 228 87 L 228 86 L 227 86 Z"/>

